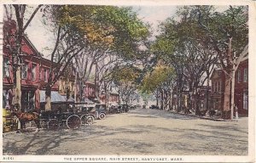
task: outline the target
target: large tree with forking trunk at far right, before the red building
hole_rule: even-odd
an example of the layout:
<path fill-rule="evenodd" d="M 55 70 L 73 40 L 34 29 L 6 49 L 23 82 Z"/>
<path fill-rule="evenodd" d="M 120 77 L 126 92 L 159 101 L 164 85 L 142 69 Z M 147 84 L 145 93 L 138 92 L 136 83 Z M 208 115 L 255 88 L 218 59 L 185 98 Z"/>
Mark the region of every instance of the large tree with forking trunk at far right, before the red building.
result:
<path fill-rule="evenodd" d="M 218 54 L 219 66 L 225 73 L 224 113 L 233 119 L 235 73 L 248 54 L 247 6 L 230 6 L 223 13 L 212 7 L 196 6 L 198 23 L 207 32 L 207 39 Z M 231 100 L 230 100 L 231 99 Z"/>

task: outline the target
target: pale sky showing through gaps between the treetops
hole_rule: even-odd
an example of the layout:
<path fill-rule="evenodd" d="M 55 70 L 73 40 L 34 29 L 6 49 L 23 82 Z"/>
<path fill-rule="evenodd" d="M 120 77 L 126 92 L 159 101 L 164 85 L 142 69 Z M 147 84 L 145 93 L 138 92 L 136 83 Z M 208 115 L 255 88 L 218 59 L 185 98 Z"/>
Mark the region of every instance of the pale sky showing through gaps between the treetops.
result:
<path fill-rule="evenodd" d="M 137 12 L 139 19 L 152 26 L 153 35 L 156 35 L 160 21 L 172 17 L 176 12 L 176 6 L 133 6 L 133 10 Z M 42 24 L 41 17 L 42 14 L 38 12 L 26 29 L 26 34 L 38 51 L 43 53 L 45 58 L 48 58 L 49 51 L 44 48 L 52 48 L 55 42 L 52 33 L 46 30 Z"/>

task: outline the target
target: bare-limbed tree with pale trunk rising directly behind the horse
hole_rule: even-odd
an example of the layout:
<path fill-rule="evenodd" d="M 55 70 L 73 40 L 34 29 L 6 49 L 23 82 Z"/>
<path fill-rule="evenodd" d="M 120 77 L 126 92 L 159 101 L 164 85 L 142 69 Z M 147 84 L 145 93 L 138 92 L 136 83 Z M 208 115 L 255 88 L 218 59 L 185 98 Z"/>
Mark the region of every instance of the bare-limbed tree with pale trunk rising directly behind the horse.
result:
<path fill-rule="evenodd" d="M 10 28 L 9 25 L 3 27 L 3 43 L 9 48 L 9 53 L 12 54 L 12 68 L 13 68 L 13 76 L 14 76 L 14 90 L 15 90 L 15 98 L 13 98 L 12 104 L 15 104 L 18 110 L 21 109 L 21 77 L 20 77 L 20 54 L 21 54 L 21 46 L 22 39 L 25 35 L 25 31 L 28 25 L 30 25 L 32 19 L 35 14 L 38 13 L 39 8 L 42 5 L 38 5 L 32 12 L 32 14 L 26 18 L 26 4 L 13 4 L 13 5 L 4 5 L 5 9 L 5 21 L 9 23 L 15 29 Z M 15 25 L 13 23 L 13 10 L 15 10 Z M 25 21 L 27 19 L 27 21 Z M 14 31 L 15 30 L 15 31 Z"/>

